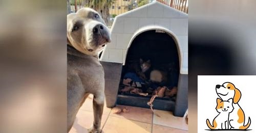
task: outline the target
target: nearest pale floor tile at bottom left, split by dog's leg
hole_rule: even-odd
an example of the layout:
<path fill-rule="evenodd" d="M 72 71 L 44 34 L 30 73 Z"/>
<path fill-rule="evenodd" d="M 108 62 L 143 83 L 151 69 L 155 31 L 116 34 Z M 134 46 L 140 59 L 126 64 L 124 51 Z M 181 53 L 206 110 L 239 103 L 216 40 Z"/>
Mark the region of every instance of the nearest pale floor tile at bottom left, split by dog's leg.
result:
<path fill-rule="evenodd" d="M 102 115 L 101 128 L 103 127 L 108 115 Z M 69 133 L 87 132 L 87 129 L 93 124 L 93 112 L 79 110 L 76 115 L 76 120 Z"/>

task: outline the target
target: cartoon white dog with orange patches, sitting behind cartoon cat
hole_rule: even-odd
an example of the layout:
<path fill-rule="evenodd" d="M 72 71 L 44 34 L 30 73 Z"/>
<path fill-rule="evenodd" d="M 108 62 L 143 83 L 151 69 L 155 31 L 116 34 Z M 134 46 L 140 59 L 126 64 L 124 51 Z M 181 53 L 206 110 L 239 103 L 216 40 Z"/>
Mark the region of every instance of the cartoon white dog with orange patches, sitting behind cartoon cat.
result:
<path fill-rule="evenodd" d="M 232 83 L 225 82 L 222 85 L 216 85 L 216 92 L 222 100 L 233 98 L 234 110 L 229 114 L 229 129 L 247 129 L 251 124 L 251 119 L 245 125 L 244 111 L 238 104 L 241 98 L 241 92 Z"/>

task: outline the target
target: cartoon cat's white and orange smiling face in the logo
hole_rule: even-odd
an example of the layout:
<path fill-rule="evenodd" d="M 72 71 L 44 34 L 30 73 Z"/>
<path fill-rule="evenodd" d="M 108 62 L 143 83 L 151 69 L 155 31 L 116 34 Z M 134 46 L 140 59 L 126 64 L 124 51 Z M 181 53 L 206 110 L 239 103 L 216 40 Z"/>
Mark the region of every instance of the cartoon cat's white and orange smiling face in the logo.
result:
<path fill-rule="evenodd" d="M 222 101 L 220 98 L 217 98 L 217 112 L 227 112 L 230 113 L 234 109 L 233 107 L 233 99 L 230 98 L 228 101 Z"/>

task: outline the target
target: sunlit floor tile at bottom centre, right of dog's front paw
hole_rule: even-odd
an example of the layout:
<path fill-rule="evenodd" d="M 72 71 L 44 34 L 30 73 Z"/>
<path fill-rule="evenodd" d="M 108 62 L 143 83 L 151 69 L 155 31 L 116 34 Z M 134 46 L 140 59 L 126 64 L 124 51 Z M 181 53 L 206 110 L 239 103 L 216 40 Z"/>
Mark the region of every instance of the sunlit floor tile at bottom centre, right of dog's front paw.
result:
<path fill-rule="evenodd" d="M 144 133 L 151 132 L 151 126 L 152 124 L 109 116 L 102 129 L 102 133 Z"/>

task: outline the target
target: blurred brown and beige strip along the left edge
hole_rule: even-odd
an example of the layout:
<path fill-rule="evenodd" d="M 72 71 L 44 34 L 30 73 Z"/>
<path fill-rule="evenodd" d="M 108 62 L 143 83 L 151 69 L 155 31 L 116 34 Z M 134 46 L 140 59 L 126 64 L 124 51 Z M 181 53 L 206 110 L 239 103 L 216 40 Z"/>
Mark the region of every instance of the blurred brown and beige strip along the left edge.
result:
<path fill-rule="evenodd" d="M 66 1 L 0 1 L 0 132 L 66 132 Z"/>

